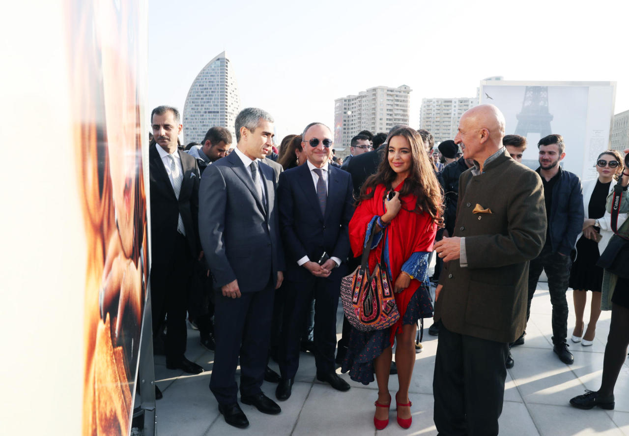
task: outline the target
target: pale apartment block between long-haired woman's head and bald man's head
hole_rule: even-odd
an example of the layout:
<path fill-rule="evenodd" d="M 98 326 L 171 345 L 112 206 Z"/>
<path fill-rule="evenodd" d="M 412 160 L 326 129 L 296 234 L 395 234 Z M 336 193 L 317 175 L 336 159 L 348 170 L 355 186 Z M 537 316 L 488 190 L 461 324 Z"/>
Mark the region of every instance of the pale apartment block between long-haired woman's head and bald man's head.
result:
<path fill-rule="evenodd" d="M 432 133 L 435 145 L 454 139 L 461 116 L 474 106 L 478 106 L 478 98 L 423 98 L 420 128 Z"/>

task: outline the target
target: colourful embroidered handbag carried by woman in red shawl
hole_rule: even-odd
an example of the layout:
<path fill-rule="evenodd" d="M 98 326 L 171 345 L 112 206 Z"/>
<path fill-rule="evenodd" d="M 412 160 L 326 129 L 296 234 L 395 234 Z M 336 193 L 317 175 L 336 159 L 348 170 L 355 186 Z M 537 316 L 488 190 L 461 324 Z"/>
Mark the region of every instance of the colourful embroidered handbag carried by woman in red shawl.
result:
<path fill-rule="evenodd" d="M 385 235 L 386 236 L 386 235 Z M 384 263 L 384 238 L 380 262 L 369 273 L 369 247 L 374 232 L 363 250 L 360 266 L 341 280 L 341 299 L 345 316 L 354 328 L 362 332 L 391 327 L 399 319 L 398 306 L 393 296 L 389 270 Z"/>

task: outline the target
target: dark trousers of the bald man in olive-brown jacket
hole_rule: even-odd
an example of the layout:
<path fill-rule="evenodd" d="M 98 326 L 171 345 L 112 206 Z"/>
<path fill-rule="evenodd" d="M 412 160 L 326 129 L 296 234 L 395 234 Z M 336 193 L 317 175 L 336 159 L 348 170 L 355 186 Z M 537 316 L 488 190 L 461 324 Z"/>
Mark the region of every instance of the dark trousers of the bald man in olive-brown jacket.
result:
<path fill-rule="evenodd" d="M 498 435 L 508 344 L 439 330 L 433 395 L 443 436 Z"/>

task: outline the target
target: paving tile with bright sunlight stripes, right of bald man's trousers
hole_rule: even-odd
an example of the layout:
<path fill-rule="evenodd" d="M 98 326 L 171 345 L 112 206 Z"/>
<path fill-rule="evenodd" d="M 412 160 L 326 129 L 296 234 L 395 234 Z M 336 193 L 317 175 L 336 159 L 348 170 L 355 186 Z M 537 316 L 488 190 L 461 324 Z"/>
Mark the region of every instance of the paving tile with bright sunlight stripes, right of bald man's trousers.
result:
<path fill-rule="evenodd" d="M 565 405 L 583 393 L 581 381 L 552 350 L 527 349 L 510 370 L 526 403 Z"/>

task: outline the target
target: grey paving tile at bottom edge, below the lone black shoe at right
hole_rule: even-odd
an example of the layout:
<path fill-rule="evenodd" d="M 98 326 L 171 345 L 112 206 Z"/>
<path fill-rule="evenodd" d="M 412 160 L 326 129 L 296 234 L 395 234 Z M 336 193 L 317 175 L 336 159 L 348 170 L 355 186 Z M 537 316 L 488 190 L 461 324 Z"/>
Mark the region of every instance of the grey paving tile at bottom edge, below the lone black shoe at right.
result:
<path fill-rule="evenodd" d="M 538 404 L 528 405 L 528 408 L 541 436 L 623 435 L 610 415 L 601 409 Z"/>

